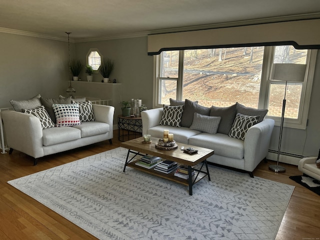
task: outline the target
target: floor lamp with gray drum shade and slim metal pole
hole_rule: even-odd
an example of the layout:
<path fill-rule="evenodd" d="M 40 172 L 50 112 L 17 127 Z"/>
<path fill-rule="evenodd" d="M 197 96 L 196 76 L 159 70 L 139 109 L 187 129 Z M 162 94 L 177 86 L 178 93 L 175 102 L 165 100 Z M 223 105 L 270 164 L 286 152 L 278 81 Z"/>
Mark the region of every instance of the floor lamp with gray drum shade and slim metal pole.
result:
<path fill-rule="evenodd" d="M 287 82 L 298 82 L 304 81 L 306 64 L 295 64 L 295 63 L 273 63 L 271 66 L 270 80 L 285 81 L 284 97 L 282 101 L 282 113 L 281 113 L 281 124 L 280 124 L 280 134 L 278 143 L 278 154 L 276 159 L 276 164 L 269 165 L 269 170 L 274 172 L 285 172 L 283 166 L 279 166 L 279 156 L 284 120 L 284 110 L 285 110 L 285 94 Z"/>

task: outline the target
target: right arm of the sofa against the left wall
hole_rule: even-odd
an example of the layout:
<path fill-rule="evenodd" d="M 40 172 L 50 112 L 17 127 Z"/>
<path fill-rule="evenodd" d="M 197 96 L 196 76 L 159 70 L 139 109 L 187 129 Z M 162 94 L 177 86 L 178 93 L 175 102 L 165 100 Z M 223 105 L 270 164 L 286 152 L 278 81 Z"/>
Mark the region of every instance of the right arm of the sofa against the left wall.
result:
<path fill-rule="evenodd" d="M 93 114 L 96 121 L 108 123 L 110 126 L 109 136 L 113 138 L 113 115 L 114 106 L 92 104 Z"/>

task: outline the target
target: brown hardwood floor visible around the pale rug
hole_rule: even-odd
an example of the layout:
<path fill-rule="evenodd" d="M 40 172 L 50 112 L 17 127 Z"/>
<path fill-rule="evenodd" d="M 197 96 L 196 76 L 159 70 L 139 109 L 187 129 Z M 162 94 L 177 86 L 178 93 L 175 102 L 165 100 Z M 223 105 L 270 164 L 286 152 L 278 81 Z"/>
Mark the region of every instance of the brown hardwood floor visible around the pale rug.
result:
<path fill-rule="evenodd" d="M 36 166 L 24 153 L 0 154 L 0 239 L 97 239 L 6 182 L 119 144 L 115 130 L 111 145 L 107 140 L 45 156 Z M 286 172 L 275 173 L 268 170 L 270 163 L 261 161 L 254 175 L 295 186 L 275 239 L 320 239 L 320 196 L 289 179 L 290 175 L 301 174 L 297 166 L 281 163 Z"/>

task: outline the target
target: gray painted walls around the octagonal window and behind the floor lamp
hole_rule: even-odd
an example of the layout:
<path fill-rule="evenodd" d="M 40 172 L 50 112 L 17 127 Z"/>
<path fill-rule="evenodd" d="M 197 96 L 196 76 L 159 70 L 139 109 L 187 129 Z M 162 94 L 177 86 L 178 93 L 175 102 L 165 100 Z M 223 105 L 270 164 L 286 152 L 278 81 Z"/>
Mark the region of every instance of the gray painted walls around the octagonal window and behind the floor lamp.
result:
<path fill-rule="evenodd" d="M 121 83 L 122 100 L 141 98 L 152 107 L 153 58 L 147 55 L 146 37 L 75 43 L 75 55 L 85 63 L 89 48 L 114 60 L 110 78 Z M 8 106 L 9 99 L 26 99 L 38 93 L 46 97 L 64 94 L 67 87 L 67 42 L 0 33 L 0 107 Z M 84 71 L 80 74 L 86 79 Z M 101 75 L 94 74 L 94 81 Z M 309 124 L 305 130 L 284 128 L 281 151 L 298 155 L 317 155 L 320 148 L 320 53 L 314 73 Z M 117 103 L 113 103 L 116 112 Z M 277 149 L 279 127 L 274 127 L 271 149 Z"/>

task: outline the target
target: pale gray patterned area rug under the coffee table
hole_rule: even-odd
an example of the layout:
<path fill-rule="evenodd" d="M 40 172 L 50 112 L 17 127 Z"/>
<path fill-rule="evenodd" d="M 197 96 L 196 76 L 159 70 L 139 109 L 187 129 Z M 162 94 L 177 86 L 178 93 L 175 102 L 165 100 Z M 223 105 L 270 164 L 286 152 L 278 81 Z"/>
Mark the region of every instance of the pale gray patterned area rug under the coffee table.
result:
<path fill-rule="evenodd" d="M 127 149 L 8 181 L 99 239 L 274 239 L 294 186 L 209 166 L 188 187 L 127 167 Z"/>

